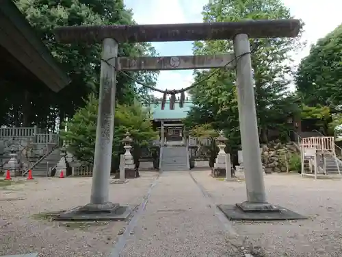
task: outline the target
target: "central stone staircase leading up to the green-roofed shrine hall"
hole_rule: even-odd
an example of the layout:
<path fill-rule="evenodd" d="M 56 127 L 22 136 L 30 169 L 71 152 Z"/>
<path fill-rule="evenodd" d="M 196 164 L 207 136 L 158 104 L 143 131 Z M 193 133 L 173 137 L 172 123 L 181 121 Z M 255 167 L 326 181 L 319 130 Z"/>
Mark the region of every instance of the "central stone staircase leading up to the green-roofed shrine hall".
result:
<path fill-rule="evenodd" d="M 161 158 L 161 171 L 187 171 L 187 147 L 168 146 L 163 147 Z"/>

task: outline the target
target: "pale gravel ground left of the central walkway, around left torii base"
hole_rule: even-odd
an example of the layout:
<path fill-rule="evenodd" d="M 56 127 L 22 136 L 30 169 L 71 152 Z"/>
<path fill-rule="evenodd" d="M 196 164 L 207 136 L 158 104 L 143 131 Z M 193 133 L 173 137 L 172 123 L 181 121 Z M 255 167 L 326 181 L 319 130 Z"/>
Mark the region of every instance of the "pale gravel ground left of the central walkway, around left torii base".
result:
<path fill-rule="evenodd" d="M 111 184 L 109 200 L 140 204 L 157 173 L 140 175 L 127 184 Z M 0 256 L 38 252 L 44 257 L 97 257 L 111 252 L 127 223 L 51 222 L 39 215 L 88 204 L 91 181 L 36 178 L 7 187 L 0 182 Z"/>

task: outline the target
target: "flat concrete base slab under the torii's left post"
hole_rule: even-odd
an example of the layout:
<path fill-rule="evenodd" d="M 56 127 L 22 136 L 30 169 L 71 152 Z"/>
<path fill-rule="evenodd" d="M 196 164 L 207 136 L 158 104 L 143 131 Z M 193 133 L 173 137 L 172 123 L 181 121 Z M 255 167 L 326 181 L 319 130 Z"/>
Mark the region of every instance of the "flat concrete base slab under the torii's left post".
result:
<path fill-rule="evenodd" d="M 77 206 L 71 210 L 57 215 L 56 221 L 124 221 L 136 206 L 118 206 L 111 212 L 89 212 L 83 210 L 83 206 Z"/>

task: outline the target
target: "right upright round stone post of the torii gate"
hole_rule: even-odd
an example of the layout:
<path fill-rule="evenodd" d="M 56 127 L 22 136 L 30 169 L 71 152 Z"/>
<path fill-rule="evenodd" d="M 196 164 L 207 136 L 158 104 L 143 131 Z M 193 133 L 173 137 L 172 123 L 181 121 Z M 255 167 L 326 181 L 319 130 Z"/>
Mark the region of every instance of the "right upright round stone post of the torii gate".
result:
<path fill-rule="evenodd" d="M 250 41 L 247 34 L 237 34 L 234 38 L 237 58 L 237 95 L 242 154 L 246 179 L 247 201 L 239 205 L 267 204 L 260 154 L 257 112 L 255 109 Z M 248 53 L 248 54 L 246 54 Z"/>

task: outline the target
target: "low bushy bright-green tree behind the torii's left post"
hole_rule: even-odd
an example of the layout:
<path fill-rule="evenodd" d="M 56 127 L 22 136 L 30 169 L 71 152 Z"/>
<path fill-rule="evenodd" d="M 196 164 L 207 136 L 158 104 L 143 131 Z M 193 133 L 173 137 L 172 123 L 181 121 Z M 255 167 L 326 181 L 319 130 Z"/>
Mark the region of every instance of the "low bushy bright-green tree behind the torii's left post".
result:
<path fill-rule="evenodd" d="M 68 151 L 78 160 L 92 163 L 95 151 L 98 99 L 91 94 L 85 102 L 86 105 L 79 108 L 73 118 L 66 123 L 67 131 L 62 132 L 62 138 L 68 143 Z M 127 132 L 131 134 L 133 147 L 137 150 L 136 154 L 140 152 L 139 147 L 148 145 L 150 140 L 157 138 L 148 110 L 142 108 L 142 105 L 137 102 L 131 105 L 117 103 L 114 125 L 114 158 L 122 153 L 121 140 Z M 139 158 L 139 156 L 134 157 Z"/>

